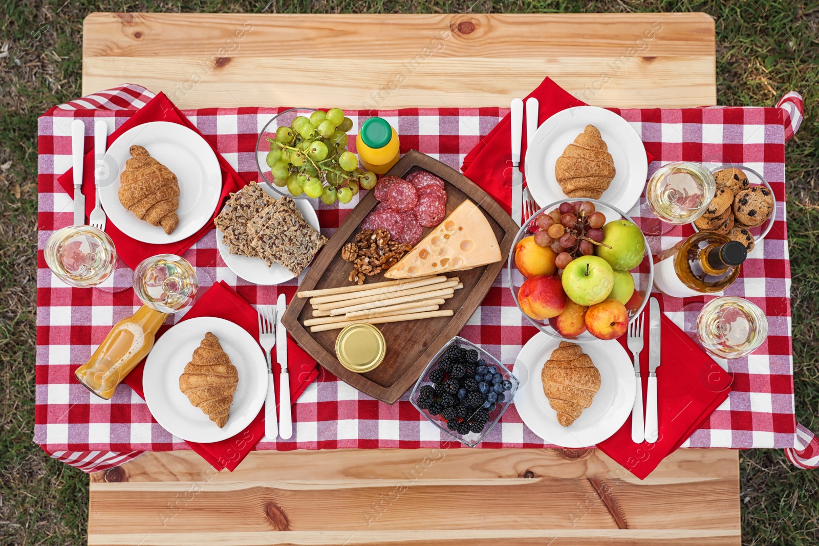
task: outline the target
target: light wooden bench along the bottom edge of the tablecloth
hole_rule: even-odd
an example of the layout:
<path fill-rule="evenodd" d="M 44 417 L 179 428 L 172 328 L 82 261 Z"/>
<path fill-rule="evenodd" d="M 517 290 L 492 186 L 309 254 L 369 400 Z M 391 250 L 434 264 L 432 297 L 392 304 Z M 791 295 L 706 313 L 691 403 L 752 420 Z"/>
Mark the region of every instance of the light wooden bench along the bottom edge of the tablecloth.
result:
<path fill-rule="evenodd" d="M 740 544 L 730 449 L 644 481 L 595 449 L 252 452 L 219 473 L 146 453 L 92 475 L 89 513 L 95 545 Z"/>

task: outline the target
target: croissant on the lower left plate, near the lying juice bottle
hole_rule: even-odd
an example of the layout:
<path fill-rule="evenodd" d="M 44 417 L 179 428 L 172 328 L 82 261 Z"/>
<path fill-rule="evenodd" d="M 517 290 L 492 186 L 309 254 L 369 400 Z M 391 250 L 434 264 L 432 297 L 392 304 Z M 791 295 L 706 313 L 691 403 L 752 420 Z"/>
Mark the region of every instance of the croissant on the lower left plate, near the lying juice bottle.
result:
<path fill-rule="evenodd" d="M 219 338 L 207 332 L 179 376 L 179 390 L 222 428 L 230 417 L 238 382 L 236 367 L 219 345 Z"/>

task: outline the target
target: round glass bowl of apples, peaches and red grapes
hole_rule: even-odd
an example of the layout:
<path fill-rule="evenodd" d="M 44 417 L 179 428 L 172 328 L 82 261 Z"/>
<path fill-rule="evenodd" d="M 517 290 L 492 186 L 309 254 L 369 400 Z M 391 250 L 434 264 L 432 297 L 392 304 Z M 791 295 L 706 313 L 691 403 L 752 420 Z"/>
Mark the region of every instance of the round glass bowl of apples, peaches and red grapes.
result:
<path fill-rule="evenodd" d="M 533 326 L 563 341 L 622 336 L 654 282 L 649 243 L 622 210 L 589 199 L 546 205 L 509 253 L 509 288 Z"/>

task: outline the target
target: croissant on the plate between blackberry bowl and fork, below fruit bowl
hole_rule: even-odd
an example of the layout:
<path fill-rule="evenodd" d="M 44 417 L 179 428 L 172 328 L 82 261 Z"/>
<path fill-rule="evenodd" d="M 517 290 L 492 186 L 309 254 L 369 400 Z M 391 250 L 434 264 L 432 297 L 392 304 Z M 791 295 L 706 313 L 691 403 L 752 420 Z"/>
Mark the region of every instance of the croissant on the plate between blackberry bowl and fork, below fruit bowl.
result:
<path fill-rule="evenodd" d="M 600 372 L 580 345 L 561 341 L 541 372 L 543 393 L 558 413 L 561 426 L 569 426 L 600 390 Z"/>

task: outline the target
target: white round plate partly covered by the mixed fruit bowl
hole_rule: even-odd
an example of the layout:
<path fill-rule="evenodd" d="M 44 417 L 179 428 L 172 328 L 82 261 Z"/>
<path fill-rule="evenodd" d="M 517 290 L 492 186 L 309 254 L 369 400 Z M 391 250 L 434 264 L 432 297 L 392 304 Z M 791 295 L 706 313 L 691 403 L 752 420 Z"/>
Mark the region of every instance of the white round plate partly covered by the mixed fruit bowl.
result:
<path fill-rule="evenodd" d="M 600 371 L 600 390 L 590 407 L 570 426 L 561 426 L 557 412 L 543 394 L 541 371 L 560 340 L 537 332 L 518 354 L 514 374 L 521 387 L 514 396 L 518 414 L 532 431 L 550 444 L 564 448 L 586 448 L 602 442 L 619 430 L 634 406 L 634 368 L 626 350 L 616 340 L 584 343 L 583 352 Z"/>

